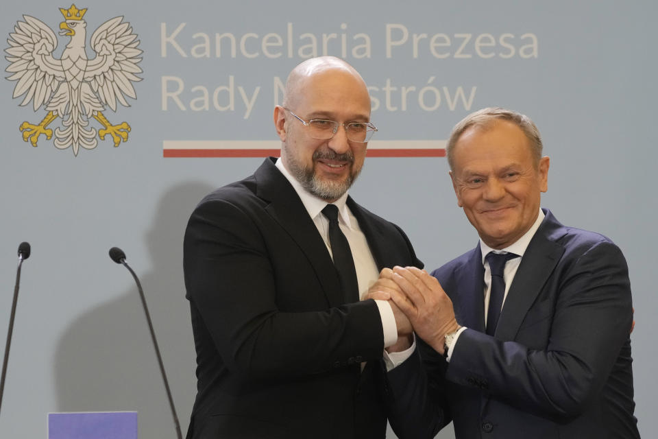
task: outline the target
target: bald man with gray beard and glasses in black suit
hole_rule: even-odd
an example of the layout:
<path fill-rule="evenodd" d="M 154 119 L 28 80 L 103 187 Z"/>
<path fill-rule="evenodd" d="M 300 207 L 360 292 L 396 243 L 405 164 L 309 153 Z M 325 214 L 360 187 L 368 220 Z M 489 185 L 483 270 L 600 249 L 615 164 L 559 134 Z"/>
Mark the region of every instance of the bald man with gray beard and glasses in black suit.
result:
<path fill-rule="evenodd" d="M 376 131 L 365 82 L 338 58 L 306 60 L 274 126 L 281 157 L 206 196 L 186 229 L 188 438 L 382 439 L 382 354 L 411 325 L 361 299 L 382 268 L 422 263 L 348 195 Z"/>

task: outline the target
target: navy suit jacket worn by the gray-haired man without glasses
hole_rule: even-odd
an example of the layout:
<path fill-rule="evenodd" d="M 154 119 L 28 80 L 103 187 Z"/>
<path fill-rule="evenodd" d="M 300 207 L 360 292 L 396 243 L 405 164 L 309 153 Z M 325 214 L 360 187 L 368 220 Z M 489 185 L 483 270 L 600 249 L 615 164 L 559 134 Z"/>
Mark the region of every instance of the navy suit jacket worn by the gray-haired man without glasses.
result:
<path fill-rule="evenodd" d="M 432 273 L 468 329 L 450 364 L 421 342 L 389 373 L 400 438 L 432 438 L 450 420 L 458 439 L 639 438 L 626 261 L 606 237 L 545 213 L 493 337 L 479 245 Z"/>

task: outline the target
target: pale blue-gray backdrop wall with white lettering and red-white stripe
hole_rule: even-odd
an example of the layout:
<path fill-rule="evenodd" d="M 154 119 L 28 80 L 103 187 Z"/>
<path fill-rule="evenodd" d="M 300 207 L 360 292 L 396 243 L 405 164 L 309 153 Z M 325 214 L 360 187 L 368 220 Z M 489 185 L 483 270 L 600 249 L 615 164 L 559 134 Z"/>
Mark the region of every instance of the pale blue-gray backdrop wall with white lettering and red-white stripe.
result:
<path fill-rule="evenodd" d="M 59 8 L 69 7 L 5 2 L 2 39 L 14 39 L 23 15 L 58 32 Z M 258 150 L 277 147 L 272 110 L 280 84 L 295 64 L 322 54 L 361 71 L 380 128 L 370 145 L 376 156 L 351 193 L 402 226 L 428 268 L 477 239 L 441 157 L 450 128 L 492 105 L 535 120 L 551 157 L 543 205 L 565 224 L 608 235 L 628 259 L 636 415 L 650 436 L 658 393 L 650 329 L 658 245 L 655 2 L 117 0 L 77 7 L 87 8 L 89 58 L 94 29 L 115 16 L 130 23 L 143 51 L 142 80 L 132 83 L 129 107 L 103 112 L 130 124 L 127 141 L 114 147 L 107 137 L 77 155 L 55 147 L 54 137 L 40 137 L 37 147 L 24 142 L 21 123 L 38 124 L 47 111 L 21 106 L 25 94 L 12 98 L 14 72 L 0 80 L 2 335 L 16 248 L 32 244 L 0 437 L 42 438 L 48 412 L 95 410 L 137 410 L 141 438 L 175 437 L 136 287 L 108 258 L 112 246 L 127 252 L 141 276 L 186 429 L 195 395 L 182 280 L 187 217 L 205 193 L 251 174 L 262 161 Z M 58 37 L 55 58 L 68 42 Z M 93 119 L 90 126 L 102 128 Z"/>

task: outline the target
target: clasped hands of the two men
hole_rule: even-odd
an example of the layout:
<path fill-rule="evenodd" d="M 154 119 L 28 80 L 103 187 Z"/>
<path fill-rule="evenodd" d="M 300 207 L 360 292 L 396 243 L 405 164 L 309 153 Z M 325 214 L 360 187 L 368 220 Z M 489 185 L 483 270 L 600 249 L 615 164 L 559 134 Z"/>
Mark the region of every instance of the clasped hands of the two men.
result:
<path fill-rule="evenodd" d="M 366 298 L 389 300 L 398 342 L 389 352 L 403 351 L 411 346 L 415 331 L 435 351 L 443 354 L 444 336 L 459 329 L 454 317 L 452 300 L 439 281 L 425 270 L 415 267 L 385 268 L 370 287 Z"/>

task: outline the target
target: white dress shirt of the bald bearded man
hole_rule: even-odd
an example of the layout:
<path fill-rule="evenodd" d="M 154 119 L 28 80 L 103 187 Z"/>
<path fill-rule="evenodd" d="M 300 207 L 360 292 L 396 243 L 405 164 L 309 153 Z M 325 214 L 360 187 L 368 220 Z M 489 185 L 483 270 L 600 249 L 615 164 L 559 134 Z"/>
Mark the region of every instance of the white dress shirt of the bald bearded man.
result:
<path fill-rule="evenodd" d="M 295 192 L 297 192 L 297 195 L 300 196 L 304 208 L 306 208 L 310 218 L 313 219 L 313 223 L 317 227 L 317 231 L 320 233 L 320 236 L 324 240 L 324 244 L 327 246 L 327 250 L 329 250 L 329 254 L 332 255 L 333 259 L 329 242 L 329 220 L 322 214 L 322 209 L 324 209 L 328 203 L 306 191 L 300 182 L 297 181 L 297 179 L 289 173 L 288 169 L 284 167 L 281 158 L 278 158 L 276 161 L 276 167 L 278 167 L 284 177 L 287 178 L 293 186 L 293 189 L 295 189 Z M 359 298 L 363 300 L 368 293 L 368 289 L 379 278 L 379 270 L 377 269 L 377 264 L 372 256 L 365 235 L 363 235 L 361 228 L 358 226 L 358 221 L 346 204 L 347 199 L 348 193 L 345 192 L 341 198 L 334 201 L 332 204 L 335 204 L 338 207 L 338 224 L 341 231 L 348 239 L 350 250 L 352 250 L 352 259 L 354 259 L 354 268 L 356 269 L 356 281 L 358 282 L 358 294 Z M 393 316 L 393 310 L 387 300 L 375 300 L 375 302 L 382 319 L 384 347 L 388 347 L 398 341 L 398 327 L 395 324 L 395 316 Z"/>

